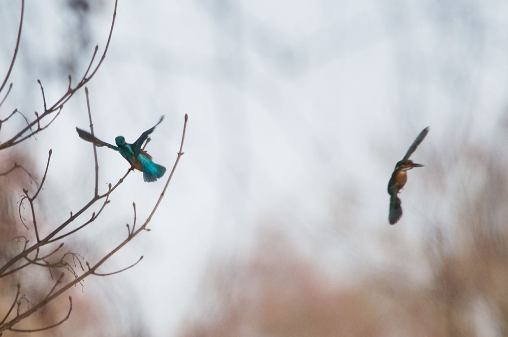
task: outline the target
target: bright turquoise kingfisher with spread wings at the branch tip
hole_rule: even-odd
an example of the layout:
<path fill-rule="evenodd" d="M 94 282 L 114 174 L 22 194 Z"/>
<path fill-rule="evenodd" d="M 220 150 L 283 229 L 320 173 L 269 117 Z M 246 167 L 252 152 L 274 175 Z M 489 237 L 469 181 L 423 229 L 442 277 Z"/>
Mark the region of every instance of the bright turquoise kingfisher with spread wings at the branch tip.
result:
<path fill-rule="evenodd" d="M 136 170 L 143 172 L 144 181 L 153 182 L 164 176 L 166 167 L 155 164 L 152 161 L 152 157 L 145 150 L 141 149 L 141 145 L 146 141 L 148 135 L 153 132 L 155 126 L 162 122 L 163 118 L 164 116 L 162 116 L 152 128 L 141 133 L 141 136 L 139 136 L 138 140 L 133 144 L 127 144 L 123 136 L 118 136 L 115 138 L 116 146 L 114 146 L 93 137 L 90 133 L 80 128 L 76 127 L 76 131 L 78 131 L 79 137 L 87 142 L 93 143 L 96 146 L 107 146 L 110 149 L 120 152 L 122 157 L 129 161 L 132 168 L 136 168 Z"/>

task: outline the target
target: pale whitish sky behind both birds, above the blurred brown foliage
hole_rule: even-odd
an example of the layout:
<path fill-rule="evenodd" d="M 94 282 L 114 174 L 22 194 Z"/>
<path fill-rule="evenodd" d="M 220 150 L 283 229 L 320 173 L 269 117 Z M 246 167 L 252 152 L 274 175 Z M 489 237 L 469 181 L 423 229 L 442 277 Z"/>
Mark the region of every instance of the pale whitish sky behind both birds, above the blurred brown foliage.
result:
<path fill-rule="evenodd" d="M 15 87 L 2 116 L 16 107 L 40 111 L 37 79 L 54 100 L 67 89 L 69 65 L 77 82 L 94 45 L 102 53 L 113 2 L 91 1 L 81 21 L 62 4 L 26 2 Z M 0 37 L 2 74 L 18 13 L 17 3 L 0 4 L 0 30 L 10 34 Z M 428 166 L 443 140 L 499 131 L 507 106 L 506 18 L 508 4 L 494 0 L 120 0 L 107 57 L 88 84 L 96 135 L 134 142 L 164 114 L 148 149 L 171 170 L 189 116 L 185 155 L 152 231 L 115 259 L 123 266 L 144 255 L 118 280 L 130 279 L 154 336 L 177 331 L 205 267 L 244 254 L 266 219 L 303 241 L 310 235 L 337 246 L 323 249 L 359 245 L 375 256 L 369 233 L 393 229 L 386 185 L 417 134 L 431 126 L 413 158 Z M 61 198 L 46 203 L 57 219 L 92 193 L 91 147 L 74 129 L 85 128 L 87 118 L 80 92 L 49 132 L 27 144 L 41 153 L 41 172 L 53 149 L 46 189 Z M 128 163 L 98 152 L 104 190 Z M 429 230 L 419 227 L 422 206 L 411 200 L 419 176 L 411 172 L 404 190 L 400 230 L 409 241 Z M 89 195 L 73 194 L 69 184 Z M 132 222 L 132 202 L 138 219 L 146 217 L 163 185 L 131 174 L 87 235 L 101 230 L 119 239 Z M 337 233 L 339 240 L 327 239 L 337 199 L 352 212 L 347 221 L 358 242 Z"/>

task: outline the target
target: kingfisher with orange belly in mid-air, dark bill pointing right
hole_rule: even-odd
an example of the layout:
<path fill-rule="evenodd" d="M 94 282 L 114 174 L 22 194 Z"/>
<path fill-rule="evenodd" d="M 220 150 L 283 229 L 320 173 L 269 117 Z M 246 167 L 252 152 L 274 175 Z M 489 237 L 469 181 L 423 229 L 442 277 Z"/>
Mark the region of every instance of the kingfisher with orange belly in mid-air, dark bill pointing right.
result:
<path fill-rule="evenodd" d="M 417 164 L 412 162 L 412 160 L 409 160 L 409 157 L 413 152 L 415 152 L 418 145 L 423 142 L 428 132 L 429 126 L 420 132 L 418 137 L 409 147 L 409 150 L 407 150 L 404 158 L 402 158 L 402 160 L 397 162 L 395 165 L 395 170 L 392 173 L 392 178 L 390 178 L 390 181 L 388 182 L 388 194 L 390 194 L 390 214 L 388 216 L 388 220 L 390 221 L 391 225 L 395 224 L 402 217 L 402 207 L 400 207 L 401 201 L 397 194 L 399 194 L 402 187 L 404 187 L 406 184 L 406 172 L 411 170 L 413 167 L 423 167 L 422 164 Z"/>

